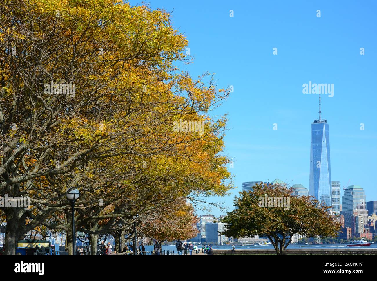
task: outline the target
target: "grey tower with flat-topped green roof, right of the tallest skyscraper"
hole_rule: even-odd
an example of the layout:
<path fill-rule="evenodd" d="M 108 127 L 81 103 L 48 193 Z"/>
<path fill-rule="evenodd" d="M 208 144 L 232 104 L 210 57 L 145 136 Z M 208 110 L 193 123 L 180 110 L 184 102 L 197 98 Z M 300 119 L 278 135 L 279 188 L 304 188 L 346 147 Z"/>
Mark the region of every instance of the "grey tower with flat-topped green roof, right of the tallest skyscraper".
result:
<path fill-rule="evenodd" d="M 360 225 L 362 223 L 366 224 L 366 222 L 368 221 L 368 211 L 366 210 L 365 204 L 365 193 L 362 187 L 356 185 L 348 186 L 344 190 L 342 206 L 345 227 L 353 227 L 353 225 L 355 225 L 354 223 L 352 223 L 352 220 L 354 219 L 352 218 L 353 216 L 362 217 L 357 220 Z"/>

